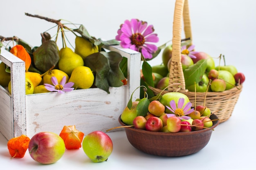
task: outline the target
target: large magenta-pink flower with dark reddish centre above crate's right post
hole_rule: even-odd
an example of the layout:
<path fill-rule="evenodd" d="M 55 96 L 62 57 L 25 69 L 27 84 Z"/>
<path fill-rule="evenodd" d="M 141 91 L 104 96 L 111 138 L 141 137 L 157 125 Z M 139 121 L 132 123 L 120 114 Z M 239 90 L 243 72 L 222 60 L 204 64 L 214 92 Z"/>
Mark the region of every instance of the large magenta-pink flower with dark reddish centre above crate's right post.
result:
<path fill-rule="evenodd" d="M 151 59 L 152 54 L 157 51 L 157 46 L 148 42 L 158 42 L 157 34 L 153 25 L 137 19 L 125 20 L 117 31 L 116 40 L 121 41 L 123 48 L 129 48 L 138 52 L 146 59 Z"/>

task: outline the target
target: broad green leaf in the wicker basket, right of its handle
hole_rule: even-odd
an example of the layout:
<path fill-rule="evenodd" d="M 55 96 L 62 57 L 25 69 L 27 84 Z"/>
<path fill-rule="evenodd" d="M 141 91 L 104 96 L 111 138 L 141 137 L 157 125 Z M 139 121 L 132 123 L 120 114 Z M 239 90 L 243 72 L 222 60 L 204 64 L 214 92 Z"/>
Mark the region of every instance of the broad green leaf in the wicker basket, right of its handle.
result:
<path fill-rule="evenodd" d="M 192 66 L 189 66 L 184 70 L 184 80 L 186 86 L 190 86 L 192 84 L 198 83 L 201 81 L 202 76 L 205 73 L 207 67 L 207 61 L 205 59 L 199 60 Z"/>

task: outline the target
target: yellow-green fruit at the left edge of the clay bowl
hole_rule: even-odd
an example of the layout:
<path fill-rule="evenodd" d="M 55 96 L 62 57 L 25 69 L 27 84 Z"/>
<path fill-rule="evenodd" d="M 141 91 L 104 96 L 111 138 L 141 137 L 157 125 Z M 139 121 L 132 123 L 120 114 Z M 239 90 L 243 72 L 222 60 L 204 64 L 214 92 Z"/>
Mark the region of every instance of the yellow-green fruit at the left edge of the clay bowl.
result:
<path fill-rule="evenodd" d="M 133 119 L 137 117 L 137 105 L 139 101 L 132 102 L 132 108 L 129 109 L 127 106 L 124 108 L 121 114 L 121 120 L 126 125 L 133 125 Z"/>

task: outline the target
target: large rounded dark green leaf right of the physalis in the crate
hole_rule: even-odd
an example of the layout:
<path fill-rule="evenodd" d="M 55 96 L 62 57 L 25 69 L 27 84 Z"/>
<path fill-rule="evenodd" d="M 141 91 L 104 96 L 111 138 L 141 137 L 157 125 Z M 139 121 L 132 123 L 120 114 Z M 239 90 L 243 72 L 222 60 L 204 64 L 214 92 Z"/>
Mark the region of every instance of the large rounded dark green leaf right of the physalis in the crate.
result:
<path fill-rule="evenodd" d="M 55 41 L 45 41 L 33 53 L 34 66 L 45 73 L 58 63 L 58 47 Z"/>

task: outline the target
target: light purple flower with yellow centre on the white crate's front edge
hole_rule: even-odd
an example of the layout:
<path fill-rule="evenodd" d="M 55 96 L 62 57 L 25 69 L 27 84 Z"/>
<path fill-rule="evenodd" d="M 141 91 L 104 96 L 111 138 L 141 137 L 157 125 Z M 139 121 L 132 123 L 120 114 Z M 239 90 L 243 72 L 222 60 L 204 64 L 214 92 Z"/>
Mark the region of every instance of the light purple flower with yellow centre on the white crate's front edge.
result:
<path fill-rule="evenodd" d="M 61 79 L 60 84 L 58 84 L 58 80 L 56 79 L 56 77 L 52 77 L 52 84 L 54 84 L 54 86 L 52 84 L 44 84 L 45 88 L 48 91 L 57 91 L 58 93 L 65 93 L 65 92 L 70 92 L 72 90 L 74 90 L 74 88 L 71 88 L 74 83 L 73 82 L 68 82 L 65 84 L 66 82 L 66 76 L 63 76 L 63 78 Z"/>

